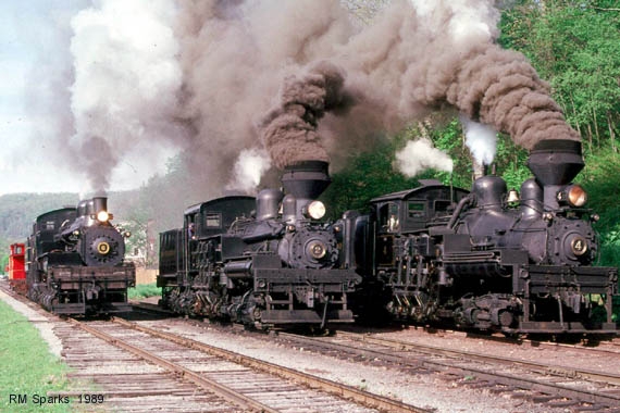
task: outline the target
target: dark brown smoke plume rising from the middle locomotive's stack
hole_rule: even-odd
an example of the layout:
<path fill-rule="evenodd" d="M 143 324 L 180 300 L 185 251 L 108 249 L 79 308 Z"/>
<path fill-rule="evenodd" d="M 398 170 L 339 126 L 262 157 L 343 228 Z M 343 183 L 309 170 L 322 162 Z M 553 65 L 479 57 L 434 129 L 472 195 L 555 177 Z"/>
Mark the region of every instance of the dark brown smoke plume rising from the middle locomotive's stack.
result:
<path fill-rule="evenodd" d="M 302 160 L 328 161 L 317 126 L 325 112 L 344 111 L 352 103 L 344 82 L 342 70 L 328 62 L 285 79 L 277 107 L 260 127 L 262 141 L 277 167 Z"/>

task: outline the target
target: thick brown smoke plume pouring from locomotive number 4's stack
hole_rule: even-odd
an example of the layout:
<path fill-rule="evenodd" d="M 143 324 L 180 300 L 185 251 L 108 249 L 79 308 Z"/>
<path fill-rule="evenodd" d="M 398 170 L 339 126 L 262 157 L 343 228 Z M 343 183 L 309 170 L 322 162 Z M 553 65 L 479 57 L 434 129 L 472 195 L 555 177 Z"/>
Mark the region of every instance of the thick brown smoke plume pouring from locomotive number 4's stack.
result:
<path fill-rule="evenodd" d="M 429 105 L 447 101 L 471 120 L 509 134 L 525 149 L 542 139 L 580 139 L 550 97 L 548 85 L 522 54 L 496 45 L 466 52 L 411 70 L 408 98 Z M 439 62 L 451 72 L 438 67 Z"/>

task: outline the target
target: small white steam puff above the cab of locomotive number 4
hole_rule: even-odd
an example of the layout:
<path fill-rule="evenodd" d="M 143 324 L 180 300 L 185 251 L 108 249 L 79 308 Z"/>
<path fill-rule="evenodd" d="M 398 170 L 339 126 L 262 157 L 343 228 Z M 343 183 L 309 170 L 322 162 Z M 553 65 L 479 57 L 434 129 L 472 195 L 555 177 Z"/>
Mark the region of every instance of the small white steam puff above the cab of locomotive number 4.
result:
<path fill-rule="evenodd" d="M 429 168 L 452 172 L 452 160 L 447 153 L 433 146 L 429 138 L 420 138 L 407 142 L 396 152 L 396 166 L 406 176 L 416 176 Z"/>

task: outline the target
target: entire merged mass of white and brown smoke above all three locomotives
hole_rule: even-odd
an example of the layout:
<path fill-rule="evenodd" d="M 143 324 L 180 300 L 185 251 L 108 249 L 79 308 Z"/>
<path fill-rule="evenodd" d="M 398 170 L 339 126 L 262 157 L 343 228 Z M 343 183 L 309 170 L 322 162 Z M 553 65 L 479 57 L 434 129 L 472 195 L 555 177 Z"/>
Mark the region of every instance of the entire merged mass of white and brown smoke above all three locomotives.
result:
<path fill-rule="evenodd" d="M 579 139 L 525 58 L 495 43 L 493 0 L 395 0 L 368 24 L 343 4 L 97 1 L 72 21 L 63 163 L 88 171 L 94 189 L 114 176 L 137 186 L 183 150 L 193 196 L 208 199 L 257 182 L 235 174 L 252 150 L 278 167 L 301 158 L 337 167 L 380 132 L 445 108 L 525 148 Z"/>

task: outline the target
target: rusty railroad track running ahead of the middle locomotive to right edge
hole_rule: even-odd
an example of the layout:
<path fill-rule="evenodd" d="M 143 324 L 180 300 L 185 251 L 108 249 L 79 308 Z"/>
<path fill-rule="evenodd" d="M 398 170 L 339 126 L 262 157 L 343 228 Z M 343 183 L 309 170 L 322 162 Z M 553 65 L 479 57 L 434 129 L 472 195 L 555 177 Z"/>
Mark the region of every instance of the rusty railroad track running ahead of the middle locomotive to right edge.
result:
<path fill-rule="evenodd" d="M 458 351 L 367 334 L 337 331 L 333 337 L 306 337 L 280 333 L 280 339 L 305 351 L 332 353 L 343 359 L 383 363 L 421 374 L 434 372 L 459 379 L 468 387 L 511 393 L 550 408 L 571 412 L 620 412 L 620 375 L 569 370 L 538 362 L 497 358 L 493 354 Z"/>

